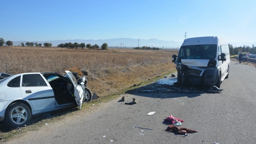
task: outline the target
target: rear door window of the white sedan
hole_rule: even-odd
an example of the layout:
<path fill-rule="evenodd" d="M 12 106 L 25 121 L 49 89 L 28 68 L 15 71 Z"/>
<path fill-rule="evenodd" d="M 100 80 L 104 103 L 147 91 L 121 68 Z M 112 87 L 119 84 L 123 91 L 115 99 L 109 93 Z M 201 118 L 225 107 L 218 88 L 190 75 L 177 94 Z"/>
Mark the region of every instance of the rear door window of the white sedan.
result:
<path fill-rule="evenodd" d="M 47 86 L 47 84 L 40 74 L 24 74 L 22 86 Z"/>

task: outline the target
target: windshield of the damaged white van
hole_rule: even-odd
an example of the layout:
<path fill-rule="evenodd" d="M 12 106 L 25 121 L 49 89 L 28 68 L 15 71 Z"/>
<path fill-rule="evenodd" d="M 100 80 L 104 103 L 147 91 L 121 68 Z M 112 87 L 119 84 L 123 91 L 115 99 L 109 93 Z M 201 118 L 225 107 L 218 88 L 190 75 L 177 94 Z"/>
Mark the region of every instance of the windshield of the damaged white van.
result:
<path fill-rule="evenodd" d="M 182 46 L 178 54 L 179 59 L 211 59 L 216 57 L 217 45 Z"/>

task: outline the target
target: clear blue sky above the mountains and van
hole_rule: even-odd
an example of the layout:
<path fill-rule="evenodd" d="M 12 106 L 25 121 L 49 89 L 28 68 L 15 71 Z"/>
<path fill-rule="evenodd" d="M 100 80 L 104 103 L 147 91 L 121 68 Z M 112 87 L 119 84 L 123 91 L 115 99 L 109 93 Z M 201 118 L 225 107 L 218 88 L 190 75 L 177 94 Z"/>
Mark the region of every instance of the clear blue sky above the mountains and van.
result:
<path fill-rule="evenodd" d="M 1 0 L 12 41 L 221 36 L 256 42 L 256 0 Z"/>

